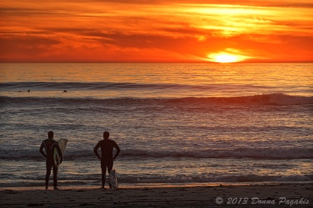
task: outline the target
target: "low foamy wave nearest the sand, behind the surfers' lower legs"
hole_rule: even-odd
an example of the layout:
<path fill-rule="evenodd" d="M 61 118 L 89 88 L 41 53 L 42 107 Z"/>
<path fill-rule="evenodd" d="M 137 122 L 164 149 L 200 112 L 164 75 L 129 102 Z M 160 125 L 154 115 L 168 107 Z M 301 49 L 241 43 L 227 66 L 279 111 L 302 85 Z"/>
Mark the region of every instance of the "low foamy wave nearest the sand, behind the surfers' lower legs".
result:
<path fill-rule="evenodd" d="M 120 186 L 127 185 L 152 185 L 160 186 L 160 184 L 219 184 L 219 183 L 258 183 L 258 182 L 312 182 L 313 175 L 227 175 L 211 177 L 210 175 L 185 175 L 176 177 L 166 177 L 164 175 L 118 175 Z M 97 187 L 101 183 L 101 177 L 97 175 L 62 175 L 58 178 L 61 186 L 91 186 Z M 12 180 L 2 180 L 0 187 L 40 187 L 42 181 L 38 178 L 29 178 L 29 180 L 12 182 Z"/>

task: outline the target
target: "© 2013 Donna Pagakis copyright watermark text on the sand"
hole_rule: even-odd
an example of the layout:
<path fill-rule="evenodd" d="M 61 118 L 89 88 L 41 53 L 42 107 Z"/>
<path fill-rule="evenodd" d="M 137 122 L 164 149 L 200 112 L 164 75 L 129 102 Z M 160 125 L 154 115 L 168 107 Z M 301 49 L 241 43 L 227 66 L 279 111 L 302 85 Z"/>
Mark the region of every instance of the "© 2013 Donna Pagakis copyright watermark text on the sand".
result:
<path fill-rule="evenodd" d="M 268 199 L 260 199 L 257 197 L 253 198 L 227 198 L 226 200 L 223 200 L 223 198 L 218 197 L 215 199 L 216 204 L 222 205 L 223 203 L 227 205 L 289 205 L 291 207 L 292 205 L 309 205 L 310 201 L 301 198 L 299 200 L 289 200 L 287 198 L 281 197 L 278 200 L 274 200 L 272 198 Z"/>

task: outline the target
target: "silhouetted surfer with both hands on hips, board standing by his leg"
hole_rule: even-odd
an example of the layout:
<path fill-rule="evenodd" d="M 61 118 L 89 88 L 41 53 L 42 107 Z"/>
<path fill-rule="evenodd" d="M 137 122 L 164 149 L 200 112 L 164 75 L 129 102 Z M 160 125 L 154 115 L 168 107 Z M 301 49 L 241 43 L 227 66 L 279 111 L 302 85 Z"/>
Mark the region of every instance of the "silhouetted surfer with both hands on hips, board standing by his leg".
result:
<path fill-rule="evenodd" d="M 108 168 L 108 172 L 110 173 L 113 168 L 113 160 L 118 157 L 120 154 L 120 147 L 116 144 L 115 141 L 109 139 L 109 132 L 103 132 L 103 140 L 99 141 L 98 144 L 94 148 L 95 155 L 101 161 L 101 170 L 102 170 L 102 189 L 104 189 L 104 184 L 106 183 L 106 167 Z M 101 157 L 98 154 L 98 149 L 101 149 Z M 116 149 L 116 153 L 113 157 L 113 148 Z M 110 188 L 111 187 L 111 184 Z"/>

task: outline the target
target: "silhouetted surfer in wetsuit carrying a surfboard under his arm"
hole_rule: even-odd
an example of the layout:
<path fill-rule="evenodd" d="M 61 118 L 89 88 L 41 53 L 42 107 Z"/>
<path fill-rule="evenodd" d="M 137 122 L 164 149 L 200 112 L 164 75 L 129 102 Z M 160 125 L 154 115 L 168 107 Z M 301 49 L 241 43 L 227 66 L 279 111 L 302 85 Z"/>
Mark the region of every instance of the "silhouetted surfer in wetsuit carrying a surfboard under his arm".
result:
<path fill-rule="evenodd" d="M 51 174 L 51 168 L 53 167 L 54 170 L 54 189 L 60 189 L 58 188 L 58 167 L 54 164 L 54 148 L 56 147 L 58 149 L 58 152 L 61 154 L 61 160 L 63 158 L 60 146 L 58 146 L 58 141 L 54 140 L 54 132 L 49 131 L 48 132 L 48 139 L 45 139 L 42 141 L 42 144 L 39 148 L 39 151 L 42 155 L 46 157 L 46 168 L 47 168 L 47 173 L 46 173 L 46 190 L 48 189 L 48 183 L 49 183 L 49 177 Z M 46 153 L 43 151 L 45 148 Z"/>

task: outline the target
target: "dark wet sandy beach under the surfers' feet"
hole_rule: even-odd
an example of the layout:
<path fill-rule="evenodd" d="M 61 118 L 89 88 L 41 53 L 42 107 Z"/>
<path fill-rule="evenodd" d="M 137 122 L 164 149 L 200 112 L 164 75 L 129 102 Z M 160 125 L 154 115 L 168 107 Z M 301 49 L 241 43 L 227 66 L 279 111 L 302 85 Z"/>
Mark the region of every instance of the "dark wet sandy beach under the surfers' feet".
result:
<path fill-rule="evenodd" d="M 312 207 L 312 183 L 0 190 L 0 207 Z"/>

